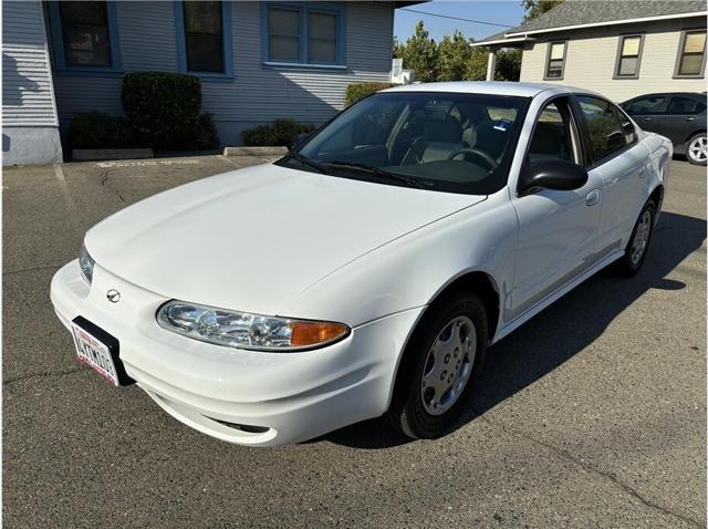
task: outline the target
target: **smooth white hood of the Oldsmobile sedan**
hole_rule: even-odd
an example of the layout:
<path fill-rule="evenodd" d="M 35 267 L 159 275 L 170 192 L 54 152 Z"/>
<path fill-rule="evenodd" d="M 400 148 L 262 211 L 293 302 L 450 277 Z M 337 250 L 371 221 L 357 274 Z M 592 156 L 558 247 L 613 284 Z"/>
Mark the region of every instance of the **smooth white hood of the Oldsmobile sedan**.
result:
<path fill-rule="evenodd" d="M 85 245 L 100 267 L 166 298 L 278 314 L 337 268 L 485 198 L 269 164 L 142 200 Z"/>

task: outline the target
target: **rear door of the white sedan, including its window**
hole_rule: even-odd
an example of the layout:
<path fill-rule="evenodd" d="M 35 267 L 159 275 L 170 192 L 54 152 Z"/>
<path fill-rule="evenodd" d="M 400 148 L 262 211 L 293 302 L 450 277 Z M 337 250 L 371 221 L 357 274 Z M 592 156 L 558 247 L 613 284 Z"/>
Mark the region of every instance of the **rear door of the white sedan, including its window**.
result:
<path fill-rule="evenodd" d="M 617 106 L 595 95 L 577 95 L 576 102 L 590 141 L 591 168 L 603 180 L 596 246 L 602 259 L 624 249 L 648 196 L 652 162 L 634 125 Z"/>

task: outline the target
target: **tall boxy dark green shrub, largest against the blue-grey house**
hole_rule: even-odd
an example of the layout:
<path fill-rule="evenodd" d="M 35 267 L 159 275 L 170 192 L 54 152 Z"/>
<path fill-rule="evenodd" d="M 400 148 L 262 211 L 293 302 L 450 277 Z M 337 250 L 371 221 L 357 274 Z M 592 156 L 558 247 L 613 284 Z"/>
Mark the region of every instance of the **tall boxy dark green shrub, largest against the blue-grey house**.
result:
<path fill-rule="evenodd" d="M 140 143 L 156 149 L 188 149 L 196 144 L 212 148 L 218 144 L 211 117 L 199 114 L 201 83 L 194 75 L 126 73 L 121 98 Z M 195 129 L 195 126 L 206 129 Z"/>

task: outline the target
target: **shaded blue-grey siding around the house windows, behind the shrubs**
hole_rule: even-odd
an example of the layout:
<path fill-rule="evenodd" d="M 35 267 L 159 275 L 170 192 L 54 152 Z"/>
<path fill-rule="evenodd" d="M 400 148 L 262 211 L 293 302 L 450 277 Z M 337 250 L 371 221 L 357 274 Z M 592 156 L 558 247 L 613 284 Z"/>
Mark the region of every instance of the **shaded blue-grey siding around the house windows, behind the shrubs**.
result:
<path fill-rule="evenodd" d="M 322 123 L 343 107 L 348 84 L 388 79 L 393 3 L 334 3 L 345 12 L 345 68 L 264 64 L 261 4 L 228 6 L 232 75 L 200 75 L 202 107 L 214 114 L 222 144 L 237 145 L 243 128 L 279 117 Z M 116 2 L 115 11 L 124 71 L 179 71 L 181 32 L 173 2 Z M 58 71 L 54 85 L 62 127 L 79 111 L 122 113 L 121 77 Z"/>

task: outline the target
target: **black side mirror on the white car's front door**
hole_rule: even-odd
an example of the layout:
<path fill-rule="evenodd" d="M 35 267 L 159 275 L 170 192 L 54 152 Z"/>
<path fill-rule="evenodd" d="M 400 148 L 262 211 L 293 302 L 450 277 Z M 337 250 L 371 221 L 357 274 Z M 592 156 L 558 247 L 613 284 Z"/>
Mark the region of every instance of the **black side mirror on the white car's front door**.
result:
<path fill-rule="evenodd" d="M 539 189 L 568 191 L 580 189 L 587 183 L 587 172 L 580 165 L 563 159 L 540 159 L 527 164 L 519 180 L 519 196 Z"/>

